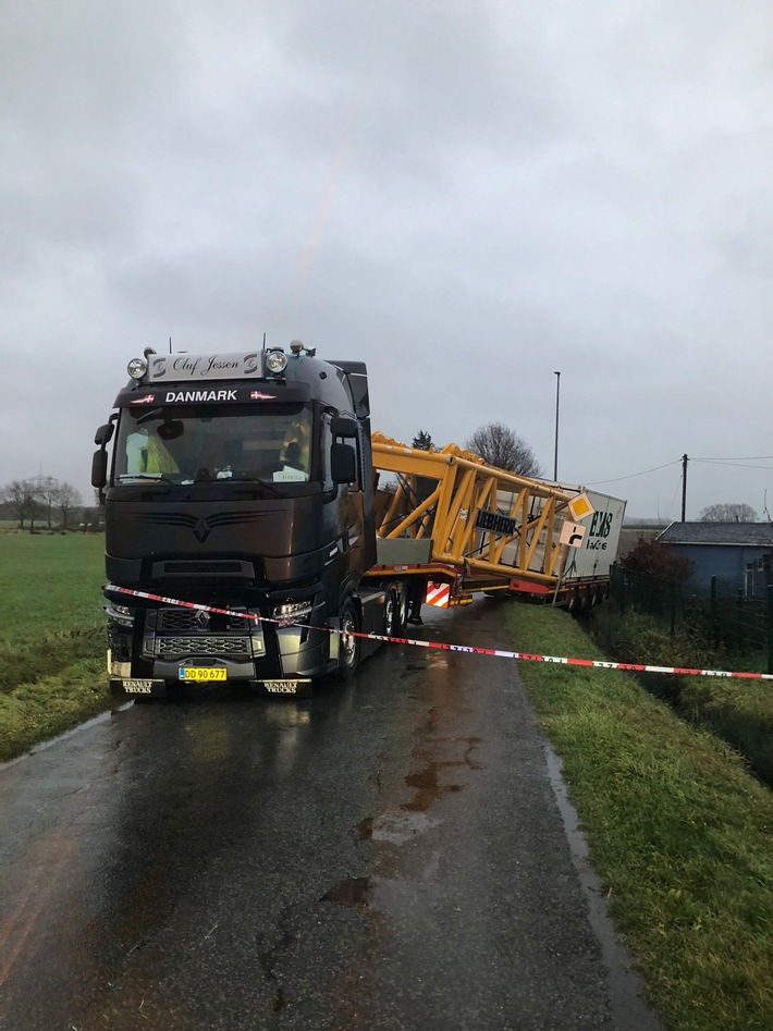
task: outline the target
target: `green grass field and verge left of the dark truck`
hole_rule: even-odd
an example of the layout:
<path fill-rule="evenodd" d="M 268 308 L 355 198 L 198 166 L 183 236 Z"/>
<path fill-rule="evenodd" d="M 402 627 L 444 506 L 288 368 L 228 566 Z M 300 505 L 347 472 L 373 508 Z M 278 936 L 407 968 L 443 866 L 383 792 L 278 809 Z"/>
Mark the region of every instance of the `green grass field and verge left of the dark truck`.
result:
<path fill-rule="evenodd" d="M 105 538 L 0 536 L 0 761 L 110 707 Z"/>

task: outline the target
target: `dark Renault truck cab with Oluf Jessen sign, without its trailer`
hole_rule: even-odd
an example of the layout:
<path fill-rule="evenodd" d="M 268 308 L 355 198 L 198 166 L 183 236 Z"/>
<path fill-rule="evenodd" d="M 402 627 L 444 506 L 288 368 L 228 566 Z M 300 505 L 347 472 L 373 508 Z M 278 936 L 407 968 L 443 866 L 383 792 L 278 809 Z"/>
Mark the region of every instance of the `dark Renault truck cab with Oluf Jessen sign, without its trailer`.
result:
<path fill-rule="evenodd" d="M 146 352 L 97 431 L 111 688 L 351 674 L 375 562 L 366 367 Z"/>

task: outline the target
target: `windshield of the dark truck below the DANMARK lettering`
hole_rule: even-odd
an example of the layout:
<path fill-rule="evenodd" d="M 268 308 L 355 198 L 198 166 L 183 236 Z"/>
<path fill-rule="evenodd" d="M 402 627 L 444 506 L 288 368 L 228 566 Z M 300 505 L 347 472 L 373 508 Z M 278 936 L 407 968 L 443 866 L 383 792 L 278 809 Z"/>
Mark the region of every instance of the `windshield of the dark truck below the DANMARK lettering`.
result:
<path fill-rule="evenodd" d="M 310 409 L 302 404 L 124 408 L 114 455 L 114 483 L 303 482 L 310 472 Z"/>

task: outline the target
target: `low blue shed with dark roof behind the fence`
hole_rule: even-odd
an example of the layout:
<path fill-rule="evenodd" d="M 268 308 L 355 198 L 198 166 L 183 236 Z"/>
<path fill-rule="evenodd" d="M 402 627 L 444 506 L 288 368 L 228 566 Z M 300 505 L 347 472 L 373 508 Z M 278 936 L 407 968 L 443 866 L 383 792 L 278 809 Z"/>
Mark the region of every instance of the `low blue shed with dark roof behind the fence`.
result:
<path fill-rule="evenodd" d="M 773 584 L 773 523 L 672 523 L 658 540 L 692 563 L 687 590 L 708 594 L 716 577 L 722 594 L 743 590 L 764 598 Z"/>

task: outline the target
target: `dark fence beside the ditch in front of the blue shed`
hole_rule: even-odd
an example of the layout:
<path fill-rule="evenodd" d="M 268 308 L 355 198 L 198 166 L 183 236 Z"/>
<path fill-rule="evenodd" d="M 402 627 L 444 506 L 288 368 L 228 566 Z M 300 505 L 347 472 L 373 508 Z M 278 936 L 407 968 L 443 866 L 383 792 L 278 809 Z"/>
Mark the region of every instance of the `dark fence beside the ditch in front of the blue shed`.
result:
<path fill-rule="evenodd" d="M 773 587 L 764 599 L 745 598 L 743 590 L 727 591 L 712 577 L 709 597 L 699 598 L 685 594 L 678 584 L 615 565 L 610 596 L 621 613 L 627 609 L 646 612 L 672 635 L 688 626 L 708 645 L 723 647 L 733 656 L 761 654 L 766 672 L 773 673 Z"/>

